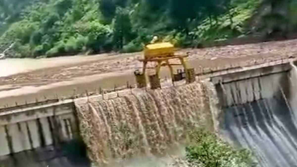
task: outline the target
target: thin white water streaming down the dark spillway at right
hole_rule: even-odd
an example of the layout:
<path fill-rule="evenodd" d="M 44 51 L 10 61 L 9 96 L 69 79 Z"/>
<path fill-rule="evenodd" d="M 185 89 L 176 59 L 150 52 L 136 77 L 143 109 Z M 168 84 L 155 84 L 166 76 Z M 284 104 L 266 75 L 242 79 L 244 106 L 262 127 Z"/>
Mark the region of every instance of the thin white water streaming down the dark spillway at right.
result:
<path fill-rule="evenodd" d="M 297 95 L 294 92 L 297 90 L 297 67 L 293 63 L 291 66 L 289 88 L 275 84 L 270 97 L 238 103 L 236 99 L 241 98 L 242 90 L 221 84 L 225 96 L 232 94 L 229 98 L 235 105 L 223 109 L 225 116 L 220 132 L 233 143 L 251 149 L 262 167 L 297 166 Z M 262 86 L 268 86 L 268 82 Z M 260 81 L 258 83 L 261 87 Z M 285 89 L 290 93 L 285 93 Z M 246 93 L 255 97 L 255 92 Z"/>

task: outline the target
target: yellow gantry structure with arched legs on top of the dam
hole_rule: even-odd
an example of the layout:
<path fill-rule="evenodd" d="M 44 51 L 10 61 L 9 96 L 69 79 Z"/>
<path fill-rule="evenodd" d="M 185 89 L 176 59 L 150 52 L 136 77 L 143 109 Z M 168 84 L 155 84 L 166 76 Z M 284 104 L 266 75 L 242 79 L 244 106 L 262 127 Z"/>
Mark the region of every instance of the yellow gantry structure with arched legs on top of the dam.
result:
<path fill-rule="evenodd" d="M 154 75 L 149 76 L 149 81 L 151 83 L 151 89 L 157 89 L 160 87 L 160 80 L 159 80 L 159 72 L 162 66 L 168 66 L 170 70 L 170 75 L 172 78 L 172 82 L 174 84 L 174 74 L 173 74 L 173 67 L 175 65 L 182 65 L 184 67 L 184 72 L 186 74 L 186 82 L 191 83 L 195 81 L 195 71 L 194 69 L 189 69 L 186 57 L 188 54 L 176 54 L 174 53 L 174 46 L 170 42 L 159 42 L 146 45 L 143 51 L 144 57 L 139 59 L 140 62 L 143 62 L 142 73 L 138 70 L 135 71 L 137 87 L 143 88 L 146 87 L 146 69 L 148 62 L 153 62 L 155 66 L 153 69 L 155 70 Z M 170 63 L 170 59 L 179 59 L 180 64 L 173 64 Z"/>

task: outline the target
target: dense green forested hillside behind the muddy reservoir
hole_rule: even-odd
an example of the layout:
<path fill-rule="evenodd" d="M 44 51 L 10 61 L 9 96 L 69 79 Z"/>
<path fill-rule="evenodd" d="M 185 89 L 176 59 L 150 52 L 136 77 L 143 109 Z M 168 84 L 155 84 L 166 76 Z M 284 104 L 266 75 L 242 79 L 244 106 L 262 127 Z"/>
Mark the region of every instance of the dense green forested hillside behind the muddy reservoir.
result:
<path fill-rule="evenodd" d="M 264 2 L 271 7 L 272 15 L 276 4 L 284 7 L 284 2 L 289 0 Z M 11 57 L 140 51 L 154 35 L 178 47 L 203 46 L 248 34 L 251 29 L 247 23 L 264 2 L 4 0 L 0 4 L 0 32 L 4 32 L 0 46 L 5 48 L 15 42 Z M 272 18 L 283 14 L 275 16 L 275 13 Z M 258 26 L 257 31 L 259 27 L 263 25 Z M 287 30 L 286 26 L 281 28 Z"/>

